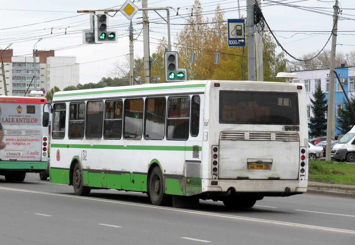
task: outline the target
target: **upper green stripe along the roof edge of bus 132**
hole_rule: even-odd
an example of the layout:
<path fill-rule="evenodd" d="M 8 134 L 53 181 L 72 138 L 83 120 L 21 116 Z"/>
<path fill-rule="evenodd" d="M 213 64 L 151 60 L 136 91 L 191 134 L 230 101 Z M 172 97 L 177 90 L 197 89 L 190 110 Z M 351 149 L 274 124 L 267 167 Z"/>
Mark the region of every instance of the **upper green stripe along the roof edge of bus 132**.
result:
<path fill-rule="evenodd" d="M 109 94 L 109 93 L 120 93 L 120 92 L 135 92 L 135 91 L 149 91 L 149 90 L 162 90 L 162 89 L 175 89 L 175 88 L 201 88 L 206 87 L 206 84 L 187 84 L 187 85 L 173 85 L 173 86 L 164 86 L 164 87 L 136 87 L 135 88 L 126 88 L 126 89 L 115 89 L 115 90 L 106 90 L 106 91 L 93 91 L 93 92 L 78 92 L 78 93 L 67 93 L 67 94 L 54 94 L 55 97 L 67 97 L 67 96 L 80 96 L 80 95 L 94 95 L 94 94 Z"/>

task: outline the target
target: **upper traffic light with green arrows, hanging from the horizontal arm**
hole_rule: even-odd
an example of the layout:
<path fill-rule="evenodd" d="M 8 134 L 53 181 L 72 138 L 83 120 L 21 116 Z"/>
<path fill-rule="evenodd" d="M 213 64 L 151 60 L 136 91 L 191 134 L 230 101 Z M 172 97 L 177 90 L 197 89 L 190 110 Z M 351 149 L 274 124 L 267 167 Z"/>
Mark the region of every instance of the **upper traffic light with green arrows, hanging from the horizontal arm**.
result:
<path fill-rule="evenodd" d="M 95 18 L 95 43 L 117 43 L 117 29 L 108 29 L 106 13 L 99 14 Z"/>

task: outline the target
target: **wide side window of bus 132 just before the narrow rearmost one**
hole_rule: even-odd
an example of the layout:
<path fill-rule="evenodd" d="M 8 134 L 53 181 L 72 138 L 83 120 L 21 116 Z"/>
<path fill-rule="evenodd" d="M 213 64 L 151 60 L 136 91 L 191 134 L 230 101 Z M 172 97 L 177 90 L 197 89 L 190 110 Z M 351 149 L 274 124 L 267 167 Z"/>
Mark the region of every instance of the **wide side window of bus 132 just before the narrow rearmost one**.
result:
<path fill-rule="evenodd" d="M 168 140 L 187 140 L 189 138 L 190 98 L 169 98 L 167 133 Z"/>

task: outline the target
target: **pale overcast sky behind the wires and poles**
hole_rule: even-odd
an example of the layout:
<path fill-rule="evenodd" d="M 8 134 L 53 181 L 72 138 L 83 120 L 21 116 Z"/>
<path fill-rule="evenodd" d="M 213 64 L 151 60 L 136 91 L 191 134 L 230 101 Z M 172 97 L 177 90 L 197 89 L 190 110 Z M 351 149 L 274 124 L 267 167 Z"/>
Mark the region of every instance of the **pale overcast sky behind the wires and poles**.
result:
<path fill-rule="evenodd" d="M 31 56 L 33 48 L 38 50 L 55 50 L 56 56 L 76 56 L 80 63 L 80 83 L 99 82 L 108 77 L 107 72 L 113 68 L 113 62 L 124 59 L 129 54 L 129 20 L 122 13 L 110 12 L 109 25 L 118 29 L 119 42 L 115 44 L 83 44 L 82 30 L 89 29 L 89 14 L 77 13 L 77 10 L 119 9 L 125 0 L 60 0 L 60 1 L 2 1 L 0 5 L 0 48 L 8 44 L 16 56 Z M 186 17 L 194 12 L 192 0 L 149 0 L 148 7 L 172 7 L 170 12 L 172 24 L 184 24 Z M 246 0 L 201 0 L 204 17 L 212 18 L 214 9 L 220 4 L 225 18 L 246 17 Z M 321 0 L 262 0 L 261 7 L 270 28 L 283 47 L 293 56 L 320 50 L 326 44 L 333 25 L 333 5 L 335 1 Z M 142 7 L 141 1 L 134 1 Z M 239 6 L 239 7 L 238 7 Z M 355 49 L 355 0 L 340 0 L 342 14 L 338 22 L 337 51 L 348 53 Z M 177 11 L 179 9 L 179 15 Z M 166 11 L 159 11 L 166 17 Z M 132 18 L 134 31 L 134 53 L 143 56 L 142 12 L 138 11 Z M 150 54 L 162 36 L 166 37 L 164 21 L 154 12 L 148 12 L 150 23 Z M 183 25 L 171 25 L 171 39 Z M 66 33 L 66 34 L 65 34 Z M 39 38 L 43 38 L 35 47 Z M 237 47 L 236 47 L 237 48 Z M 326 46 L 331 48 L 330 42 Z M 174 50 L 174 48 L 173 48 Z M 217 51 L 217 50 L 216 50 Z M 280 48 L 277 52 L 281 52 Z M 180 57 L 182 58 L 182 57 Z M 290 56 L 286 58 L 293 60 Z M 190 59 L 184 57 L 183 59 Z M 154 74 L 152 74 L 154 75 Z"/>

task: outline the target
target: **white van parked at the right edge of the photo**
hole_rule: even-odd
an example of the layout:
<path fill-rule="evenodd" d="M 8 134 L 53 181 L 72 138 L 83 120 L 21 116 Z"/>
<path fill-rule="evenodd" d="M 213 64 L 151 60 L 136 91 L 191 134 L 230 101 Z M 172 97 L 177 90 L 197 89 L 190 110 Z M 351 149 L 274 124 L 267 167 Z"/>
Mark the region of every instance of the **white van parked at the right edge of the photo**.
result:
<path fill-rule="evenodd" d="M 355 162 L 355 126 L 332 148 L 331 154 L 339 162 Z"/>

